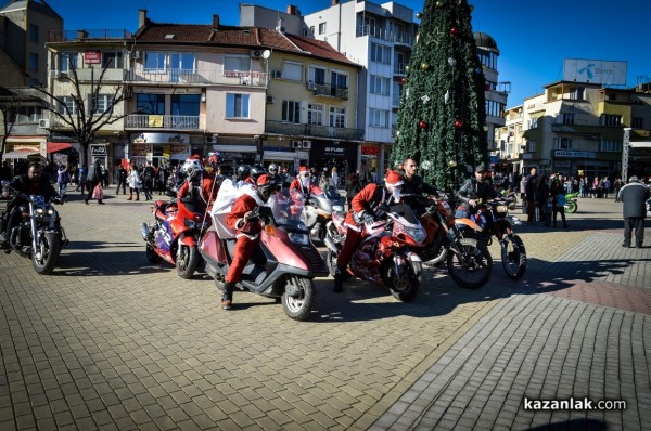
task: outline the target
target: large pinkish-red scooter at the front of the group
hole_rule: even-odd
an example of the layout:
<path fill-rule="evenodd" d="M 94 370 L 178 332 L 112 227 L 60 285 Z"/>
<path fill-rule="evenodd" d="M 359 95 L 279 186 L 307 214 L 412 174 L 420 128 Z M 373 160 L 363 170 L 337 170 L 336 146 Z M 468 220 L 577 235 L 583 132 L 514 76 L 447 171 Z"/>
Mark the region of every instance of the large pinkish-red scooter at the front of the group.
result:
<path fill-rule="evenodd" d="M 309 237 L 305 208 L 272 195 L 255 216 L 263 220 L 260 244 L 244 267 L 237 287 L 267 298 L 280 299 L 285 314 L 306 321 L 315 303 L 314 278 L 328 275 L 328 266 Z M 213 225 L 202 236 L 199 250 L 206 272 L 218 288 L 232 262 L 235 232 L 226 224 L 228 212 L 210 212 Z"/>

